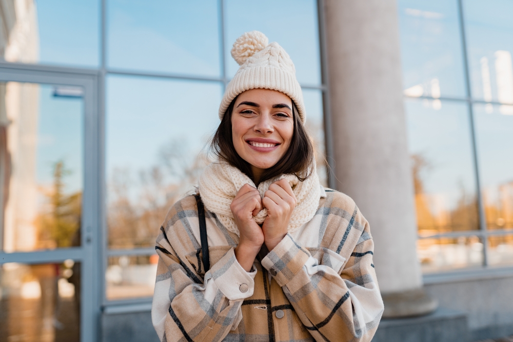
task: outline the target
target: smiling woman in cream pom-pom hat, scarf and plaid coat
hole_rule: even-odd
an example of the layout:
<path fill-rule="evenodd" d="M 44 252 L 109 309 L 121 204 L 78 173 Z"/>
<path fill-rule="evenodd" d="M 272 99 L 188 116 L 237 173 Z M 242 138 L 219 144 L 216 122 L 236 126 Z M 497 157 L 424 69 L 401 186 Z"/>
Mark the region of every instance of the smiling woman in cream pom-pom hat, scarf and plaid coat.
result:
<path fill-rule="evenodd" d="M 253 31 L 233 45 L 241 67 L 219 111 L 219 160 L 157 238 L 162 341 L 370 341 L 378 327 L 369 225 L 348 196 L 320 185 L 294 65 L 267 43 Z"/>

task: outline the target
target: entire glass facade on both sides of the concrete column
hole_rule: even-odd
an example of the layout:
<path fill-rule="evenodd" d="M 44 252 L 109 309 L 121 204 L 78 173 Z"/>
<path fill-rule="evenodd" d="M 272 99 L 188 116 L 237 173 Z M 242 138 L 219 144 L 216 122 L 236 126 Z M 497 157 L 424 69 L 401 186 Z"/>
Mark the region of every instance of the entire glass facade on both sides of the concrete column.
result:
<path fill-rule="evenodd" d="M 318 6 L 0 6 L 2 62 L 16 62 L 19 75 L 46 73 L 46 81 L 0 75 L 0 253 L 14 255 L 0 268 L 0 340 L 33 340 L 18 319 L 30 310 L 33 334 L 56 341 L 87 336 L 80 328 L 93 325 L 84 323 L 91 307 L 150 303 L 155 236 L 208 162 L 221 96 L 238 69 L 231 44 L 245 31 L 264 32 L 294 61 L 327 185 Z M 398 1 L 425 273 L 513 266 L 512 12 L 507 0 Z M 94 82 L 61 82 L 67 74 Z"/>

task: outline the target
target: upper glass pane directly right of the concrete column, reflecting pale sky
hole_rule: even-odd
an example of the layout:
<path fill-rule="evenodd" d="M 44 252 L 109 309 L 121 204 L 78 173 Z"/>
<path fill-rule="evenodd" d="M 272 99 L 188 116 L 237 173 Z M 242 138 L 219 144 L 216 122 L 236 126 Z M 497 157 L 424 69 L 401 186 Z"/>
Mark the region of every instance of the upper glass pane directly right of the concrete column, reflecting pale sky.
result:
<path fill-rule="evenodd" d="M 464 97 L 465 78 L 456 0 L 399 0 L 404 93 Z"/>

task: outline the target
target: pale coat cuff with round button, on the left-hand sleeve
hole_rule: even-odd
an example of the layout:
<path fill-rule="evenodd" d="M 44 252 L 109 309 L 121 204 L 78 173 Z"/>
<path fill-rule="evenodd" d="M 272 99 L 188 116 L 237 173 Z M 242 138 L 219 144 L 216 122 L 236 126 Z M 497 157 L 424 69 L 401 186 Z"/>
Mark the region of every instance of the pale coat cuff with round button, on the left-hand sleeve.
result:
<path fill-rule="evenodd" d="M 235 258 L 234 248 L 231 248 L 210 269 L 214 284 L 228 300 L 242 300 L 253 295 L 254 277 L 257 270 L 253 267 L 246 272 Z"/>

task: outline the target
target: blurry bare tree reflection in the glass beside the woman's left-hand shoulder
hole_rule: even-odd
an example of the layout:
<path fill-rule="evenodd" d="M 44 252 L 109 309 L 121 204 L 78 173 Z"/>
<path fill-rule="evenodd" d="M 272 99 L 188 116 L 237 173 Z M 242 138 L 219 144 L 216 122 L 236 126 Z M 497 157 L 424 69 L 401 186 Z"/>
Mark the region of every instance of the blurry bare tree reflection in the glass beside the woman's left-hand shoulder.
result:
<path fill-rule="evenodd" d="M 184 140 L 173 139 L 157 153 L 156 165 L 114 168 L 109 183 L 107 223 L 112 248 L 154 244 L 169 208 L 191 191 L 208 164 L 205 153 L 190 153 Z"/>

